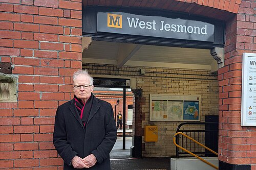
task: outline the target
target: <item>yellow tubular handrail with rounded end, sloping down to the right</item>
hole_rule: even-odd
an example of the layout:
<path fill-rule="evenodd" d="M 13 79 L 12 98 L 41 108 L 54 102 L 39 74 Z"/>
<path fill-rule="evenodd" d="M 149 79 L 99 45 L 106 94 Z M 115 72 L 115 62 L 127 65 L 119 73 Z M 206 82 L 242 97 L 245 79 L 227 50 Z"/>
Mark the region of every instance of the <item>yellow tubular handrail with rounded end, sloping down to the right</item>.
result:
<path fill-rule="evenodd" d="M 181 135 L 185 136 L 186 138 L 188 138 L 188 139 L 190 139 L 190 140 L 196 142 L 196 143 L 199 144 L 201 147 L 207 149 L 208 151 L 214 153 L 215 155 L 218 155 L 218 153 L 216 153 L 215 151 L 212 151 L 212 150 L 209 149 L 208 147 L 205 147 L 205 145 L 203 145 L 202 143 L 200 143 L 200 142 L 198 142 L 197 140 L 195 140 L 195 139 L 193 139 L 193 138 L 187 136 L 186 134 L 184 134 L 184 133 L 182 133 L 182 132 L 177 132 L 177 133 L 174 134 L 173 140 L 174 140 L 174 144 L 176 145 L 176 147 L 182 149 L 183 151 L 189 153 L 190 155 L 193 155 L 193 156 L 197 157 L 198 159 L 200 159 L 200 160 L 203 161 L 204 163 L 207 163 L 208 165 L 210 165 L 210 166 L 212 166 L 212 167 L 214 167 L 214 168 L 216 168 L 216 169 L 219 169 L 219 168 L 218 168 L 217 166 L 215 166 L 214 164 L 212 164 L 212 163 L 210 163 L 210 162 L 204 160 L 203 158 L 200 158 L 199 156 L 197 156 L 197 155 L 191 153 L 190 151 L 188 151 L 188 150 L 186 150 L 185 148 L 182 148 L 180 145 L 178 145 L 178 144 L 176 143 L 176 140 L 175 140 L 175 139 L 176 139 L 176 136 L 177 136 L 178 134 L 181 134 Z"/>

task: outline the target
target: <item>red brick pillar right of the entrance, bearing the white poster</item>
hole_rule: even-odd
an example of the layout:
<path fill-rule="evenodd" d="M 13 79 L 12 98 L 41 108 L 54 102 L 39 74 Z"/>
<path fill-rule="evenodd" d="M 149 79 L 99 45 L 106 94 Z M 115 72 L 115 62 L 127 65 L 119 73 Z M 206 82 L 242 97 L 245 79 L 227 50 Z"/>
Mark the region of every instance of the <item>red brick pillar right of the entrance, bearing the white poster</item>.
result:
<path fill-rule="evenodd" d="M 225 66 L 218 71 L 220 170 L 256 169 L 255 127 L 240 125 L 242 55 L 255 53 L 255 29 L 252 1 L 242 1 L 238 15 L 226 25 Z"/>

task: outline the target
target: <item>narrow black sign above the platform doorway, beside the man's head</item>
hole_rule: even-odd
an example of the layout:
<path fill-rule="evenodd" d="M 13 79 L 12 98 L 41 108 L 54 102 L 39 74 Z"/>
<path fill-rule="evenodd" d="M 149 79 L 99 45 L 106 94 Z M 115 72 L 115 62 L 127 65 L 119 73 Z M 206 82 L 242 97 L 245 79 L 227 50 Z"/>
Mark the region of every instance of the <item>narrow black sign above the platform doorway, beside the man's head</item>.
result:
<path fill-rule="evenodd" d="M 94 87 L 130 88 L 130 79 L 93 78 Z"/>

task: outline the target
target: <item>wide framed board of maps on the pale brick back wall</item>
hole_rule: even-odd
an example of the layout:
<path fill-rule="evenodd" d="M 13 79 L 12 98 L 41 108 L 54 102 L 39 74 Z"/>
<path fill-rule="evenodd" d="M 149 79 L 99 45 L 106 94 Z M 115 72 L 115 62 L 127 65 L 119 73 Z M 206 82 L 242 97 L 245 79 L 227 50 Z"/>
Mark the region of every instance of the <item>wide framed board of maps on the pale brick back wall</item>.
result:
<path fill-rule="evenodd" d="M 150 121 L 200 121 L 200 95 L 150 94 Z"/>

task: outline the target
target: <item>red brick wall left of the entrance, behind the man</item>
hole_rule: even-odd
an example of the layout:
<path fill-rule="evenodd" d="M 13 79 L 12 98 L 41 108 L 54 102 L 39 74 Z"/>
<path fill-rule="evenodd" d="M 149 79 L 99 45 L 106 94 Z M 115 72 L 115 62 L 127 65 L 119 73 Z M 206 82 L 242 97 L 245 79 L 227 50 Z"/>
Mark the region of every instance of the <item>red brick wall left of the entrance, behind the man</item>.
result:
<path fill-rule="evenodd" d="M 81 1 L 0 2 L 0 60 L 18 77 L 18 101 L 0 103 L 0 168 L 60 169 L 52 132 L 81 68 Z"/>

